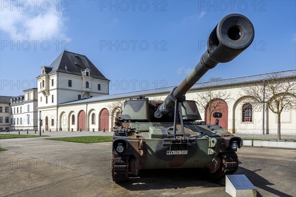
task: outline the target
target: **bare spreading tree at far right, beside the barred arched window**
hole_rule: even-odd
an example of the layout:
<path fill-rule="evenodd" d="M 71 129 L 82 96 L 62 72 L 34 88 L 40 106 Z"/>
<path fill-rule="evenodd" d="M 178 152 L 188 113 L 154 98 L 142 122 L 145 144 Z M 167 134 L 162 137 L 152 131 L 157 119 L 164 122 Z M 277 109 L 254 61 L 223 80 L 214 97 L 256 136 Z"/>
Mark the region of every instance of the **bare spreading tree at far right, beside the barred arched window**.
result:
<path fill-rule="evenodd" d="M 282 78 L 273 73 L 254 86 L 242 88 L 241 93 L 250 96 L 248 101 L 254 108 L 262 108 L 264 104 L 265 109 L 277 114 L 277 139 L 281 140 L 281 113 L 296 107 L 296 78 Z"/>

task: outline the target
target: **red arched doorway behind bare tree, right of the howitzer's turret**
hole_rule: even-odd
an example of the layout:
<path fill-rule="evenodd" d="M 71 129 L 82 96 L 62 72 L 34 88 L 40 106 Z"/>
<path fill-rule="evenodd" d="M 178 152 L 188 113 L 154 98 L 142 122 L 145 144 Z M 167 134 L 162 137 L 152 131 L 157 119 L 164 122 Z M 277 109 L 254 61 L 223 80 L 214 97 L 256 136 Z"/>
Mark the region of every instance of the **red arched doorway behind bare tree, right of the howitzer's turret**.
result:
<path fill-rule="evenodd" d="M 216 99 L 212 102 L 212 109 L 213 112 L 221 112 L 222 113 L 222 118 L 220 118 L 219 120 L 219 125 L 227 130 L 228 129 L 228 105 L 227 103 L 222 100 L 222 99 Z M 209 117 L 209 106 L 207 107 L 207 110 L 206 110 L 206 122 L 208 123 L 209 120 L 210 120 L 210 117 Z M 213 116 L 214 113 L 212 113 L 211 115 L 211 125 L 215 125 L 215 122 L 216 122 L 216 118 L 214 118 Z"/>

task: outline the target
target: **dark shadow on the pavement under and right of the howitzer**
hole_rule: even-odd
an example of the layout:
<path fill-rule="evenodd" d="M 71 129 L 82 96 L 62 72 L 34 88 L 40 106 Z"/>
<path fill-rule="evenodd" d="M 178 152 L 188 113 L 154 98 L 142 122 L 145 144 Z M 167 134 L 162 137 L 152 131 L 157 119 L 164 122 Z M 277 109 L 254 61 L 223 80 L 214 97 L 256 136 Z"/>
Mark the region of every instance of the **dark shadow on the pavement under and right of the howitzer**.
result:
<path fill-rule="evenodd" d="M 292 197 L 286 193 L 268 187 L 274 185 L 257 174 L 258 170 L 249 170 L 239 167 L 235 174 L 245 174 L 253 185 L 280 197 Z M 206 170 L 185 168 L 185 169 L 149 169 L 141 170 L 140 177 L 130 177 L 129 181 L 119 184 L 130 191 L 180 189 L 187 187 L 217 188 L 224 187 L 217 181 L 209 179 Z M 257 196 L 262 195 L 257 191 Z"/>

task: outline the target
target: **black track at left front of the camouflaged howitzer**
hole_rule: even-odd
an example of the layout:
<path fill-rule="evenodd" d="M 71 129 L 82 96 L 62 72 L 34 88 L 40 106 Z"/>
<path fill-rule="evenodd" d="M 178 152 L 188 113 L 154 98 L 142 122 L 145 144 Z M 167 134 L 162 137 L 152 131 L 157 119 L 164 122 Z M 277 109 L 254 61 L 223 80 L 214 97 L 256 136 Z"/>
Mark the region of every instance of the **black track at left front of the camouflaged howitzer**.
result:
<path fill-rule="evenodd" d="M 112 179 L 124 183 L 128 179 L 128 156 L 112 155 Z"/>

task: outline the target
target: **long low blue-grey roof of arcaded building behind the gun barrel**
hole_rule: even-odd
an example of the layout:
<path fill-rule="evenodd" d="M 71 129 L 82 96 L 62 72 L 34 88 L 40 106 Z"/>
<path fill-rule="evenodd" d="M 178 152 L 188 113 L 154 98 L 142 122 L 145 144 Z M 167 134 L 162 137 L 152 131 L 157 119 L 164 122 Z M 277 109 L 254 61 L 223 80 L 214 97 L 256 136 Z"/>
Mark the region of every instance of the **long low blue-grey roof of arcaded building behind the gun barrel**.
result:
<path fill-rule="evenodd" d="M 270 72 L 270 73 L 257 74 L 257 75 L 244 76 L 244 77 L 236 77 L 236 78 L 230 78 L 230 79 L 221 79 L 221 80 L 216 80 L 216 81 L 197 82 L 196 84 L 194 84 L 192 86 L 191 90 L 201 89 L 201 88 L 205 88 L 205 87 L 212 87 L 212 86 L 225 86 L 225 85 L 256 82 L 256 81 L 268 79 L 268 78 L 270 78 L 270 76 L 274 76 L 275 74 L 278 78 L 296 77 L 296 69 L 295 70 L 279 71 L 279 72 Z M 109 99 L 138 97 L 140 95 L 146 96 L 146 95 L 151 95 L 151 94 L 169 93 L 175 87 L 176 86 L 170 86 L 170 87 L 164 87 L 164 88 L 158 88 L 158 89 L 120 93 L 120 94 L 114 94 L 114 95 L 104 95 L 104 96 L 98 96 L 98 97 L 93 97 L 93 98 L 89 98 L 89 99 L 82 99 L 82 100 L 75 100 L 75 101 L 71 101 L 71 102 L 61 103 L 59 105 L 94 102 L 94 101 L 109 100 Z"/>

